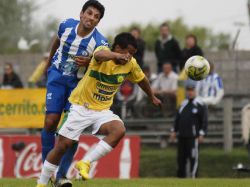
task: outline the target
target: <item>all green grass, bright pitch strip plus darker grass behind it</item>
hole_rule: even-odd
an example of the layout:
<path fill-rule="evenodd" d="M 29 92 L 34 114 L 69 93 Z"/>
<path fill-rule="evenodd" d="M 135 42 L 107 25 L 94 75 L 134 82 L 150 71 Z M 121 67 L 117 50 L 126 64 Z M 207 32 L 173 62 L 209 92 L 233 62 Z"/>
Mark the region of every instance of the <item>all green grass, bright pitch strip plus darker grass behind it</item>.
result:
<path fill-rule="evenodd" d="M 176 179 L 174 178 L 176 175 L 175 147 L 142 148 L 139 172 L 141 178 L 74 181 L 73 187 L 250 187 L 250 174 L 238 173 L 232 169 L 239 162 L 250 165 L 245 148 L 236 148 L 231 153 L 224 153 L 220 147 L 202 147 L 199 168 L 201 179 Z M 0 179 L 0 187 L 35 186 L 35 179 Z"/>

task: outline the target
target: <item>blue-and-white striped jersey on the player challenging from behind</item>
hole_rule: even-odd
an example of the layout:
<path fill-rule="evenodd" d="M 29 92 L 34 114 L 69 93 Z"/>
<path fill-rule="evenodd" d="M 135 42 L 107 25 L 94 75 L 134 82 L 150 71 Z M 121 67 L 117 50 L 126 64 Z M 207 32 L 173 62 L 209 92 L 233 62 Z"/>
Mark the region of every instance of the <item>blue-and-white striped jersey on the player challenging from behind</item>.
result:
<path fill-rule="evenodd" d="M 108 45 L 107 39 L 96 28 L 84 38 L 77 35 L 79 23 L 79 20 L 67 19 L 59 26 L 60 46 L 52 58 L 52 64 L 63 75 L 76 76 L 79 68 L 75 56 L 91 56 L 98 46 Z"/>

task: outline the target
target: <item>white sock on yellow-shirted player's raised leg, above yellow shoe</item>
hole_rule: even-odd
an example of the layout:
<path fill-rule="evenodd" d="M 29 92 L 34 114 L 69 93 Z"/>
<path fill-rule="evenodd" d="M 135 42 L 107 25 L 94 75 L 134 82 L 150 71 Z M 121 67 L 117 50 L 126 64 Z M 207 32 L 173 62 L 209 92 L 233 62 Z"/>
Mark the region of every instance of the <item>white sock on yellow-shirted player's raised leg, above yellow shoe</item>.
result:
<path fill-rule="evenodd" d="M 86 154 L 83 161 L 94 162 L 111 152 L 113 148 L 105 141 L 100 140 L 96 147 Z"/>

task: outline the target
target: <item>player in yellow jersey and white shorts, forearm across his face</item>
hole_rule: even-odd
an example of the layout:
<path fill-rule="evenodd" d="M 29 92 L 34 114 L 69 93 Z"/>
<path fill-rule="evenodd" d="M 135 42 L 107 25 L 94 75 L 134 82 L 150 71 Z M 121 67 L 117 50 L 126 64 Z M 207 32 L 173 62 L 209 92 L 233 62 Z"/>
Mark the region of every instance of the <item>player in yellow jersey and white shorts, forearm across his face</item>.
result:
<path fill-rule="evenodd" d="M 47 185 L 62 155 L 79 140 L 85 128 L 91 126 L 93 134 L 105 137 L 76 164 L 76 169 L 84 180 L 89 178 L 91 162 L 100 159 L 116 147 L 125 135 L 125 127 L 122 120 L 109 108 L 115 93 L 125 79 L 137 83 L 154 105 L 161 104 L 132 57 L 136 49 L 135 38 L 129 33 L 121 33 L 115 37 L 112 50 L 100 46 L 94 51 L 88 71 L 69 98 L 72 104 L 70 112 L 59 130 L 58 144 L 50 151 L 44 162 L 41 177 L 38 180 L 39 187 Z"/>

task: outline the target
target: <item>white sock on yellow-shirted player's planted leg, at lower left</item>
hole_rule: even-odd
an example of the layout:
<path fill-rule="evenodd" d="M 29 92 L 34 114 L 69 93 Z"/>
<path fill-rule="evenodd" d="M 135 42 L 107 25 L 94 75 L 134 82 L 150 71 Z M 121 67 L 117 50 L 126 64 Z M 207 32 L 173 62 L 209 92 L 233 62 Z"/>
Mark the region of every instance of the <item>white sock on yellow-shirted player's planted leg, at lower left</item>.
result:
<path fill-rule="evenodd" d="M 37 181 L 38 184 L 47 185 L 50 177 L 54 174 L 58 166 L 49 163 L 47 160 L 44 161 L 41 176 Z"/>

